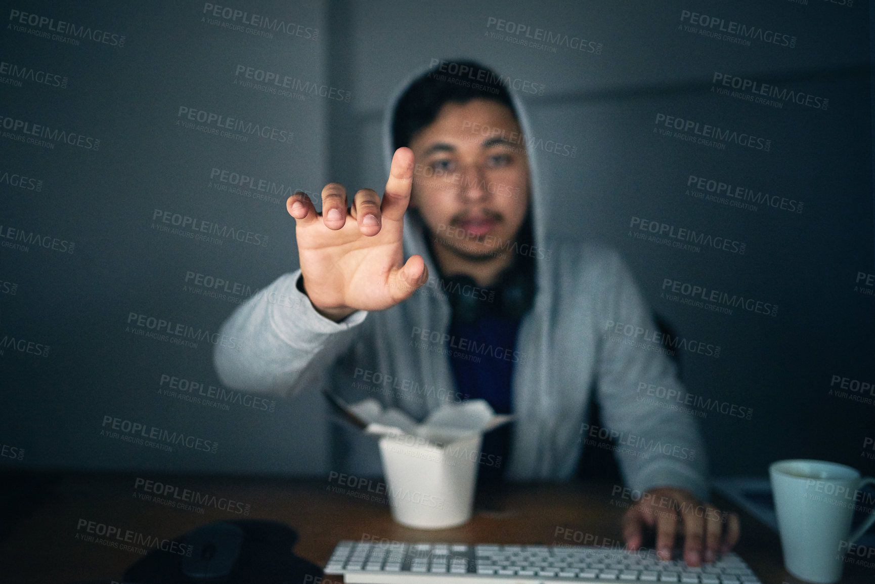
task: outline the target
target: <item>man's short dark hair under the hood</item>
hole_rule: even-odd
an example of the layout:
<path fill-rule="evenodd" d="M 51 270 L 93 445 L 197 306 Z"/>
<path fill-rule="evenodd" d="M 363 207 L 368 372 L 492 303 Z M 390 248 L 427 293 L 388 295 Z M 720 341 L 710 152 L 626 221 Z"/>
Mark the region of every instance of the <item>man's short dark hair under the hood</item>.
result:
<path fill-rule="evenodd" d="M 499 74 L 476 61 L 440 61 L 410 84 L 395 104 L 392 116 L 393 150 L 409 146 L 416 132 L 435 121 L 447 102 L 488 99 L 507 106 L 516 118 L 510 93 Z"/>

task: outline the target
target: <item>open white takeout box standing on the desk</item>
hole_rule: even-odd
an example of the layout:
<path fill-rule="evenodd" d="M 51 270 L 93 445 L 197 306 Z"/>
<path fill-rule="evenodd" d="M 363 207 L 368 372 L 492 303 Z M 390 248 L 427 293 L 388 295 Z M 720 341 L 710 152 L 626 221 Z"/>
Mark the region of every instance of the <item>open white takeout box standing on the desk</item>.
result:
<path fill-rule="evenodd" d="M 368 398 L 350 409 L 380 440 L 392 518 L 417 529 L 446 529 L 471 518 L 483 433 L 507 423 L 482 399 L 446 404 L 422 424 Z"/>

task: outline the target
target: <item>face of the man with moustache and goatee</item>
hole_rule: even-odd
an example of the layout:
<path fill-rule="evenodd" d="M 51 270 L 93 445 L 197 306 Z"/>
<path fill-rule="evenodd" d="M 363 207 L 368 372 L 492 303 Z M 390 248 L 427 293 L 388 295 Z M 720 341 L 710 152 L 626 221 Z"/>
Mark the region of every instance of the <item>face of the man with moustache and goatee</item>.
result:
<path fill-rule="evenodd" d="M 528 157 L 511 110 L 486 99 L 446 103 L 410 149 L 410 207 L 432 243 L 468 259 L 507 250 L 528 207 Z"/>

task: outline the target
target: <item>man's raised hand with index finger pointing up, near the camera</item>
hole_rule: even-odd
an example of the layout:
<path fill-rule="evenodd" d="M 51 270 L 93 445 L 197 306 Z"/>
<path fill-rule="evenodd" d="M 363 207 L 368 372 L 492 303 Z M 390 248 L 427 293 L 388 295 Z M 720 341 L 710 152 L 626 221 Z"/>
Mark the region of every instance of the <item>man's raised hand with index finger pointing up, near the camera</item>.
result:
<path fill-rule="evenodd" d="M 404 262 L 404 212 L 413 184 L 413 152 L 399 148 L 392 157 L 382 204 L 363 188 L 346 210 L 346 189 L 322 189 L 322 213 L 305 193 L 286 201 L 297 226 L 297 253 L 304 290 L 316 310 L 339 321 L 356 310 L 384 310 L 408 299 L 428 279 L 422 256 Z"/>

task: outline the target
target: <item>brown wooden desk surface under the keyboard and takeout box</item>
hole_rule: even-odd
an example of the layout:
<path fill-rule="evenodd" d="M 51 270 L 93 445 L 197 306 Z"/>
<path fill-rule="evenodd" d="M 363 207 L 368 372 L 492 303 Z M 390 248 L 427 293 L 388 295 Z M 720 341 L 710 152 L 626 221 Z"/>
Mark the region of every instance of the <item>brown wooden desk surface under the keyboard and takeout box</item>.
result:
<path fill-rule="evenodd" d="M 137 483 L 137 479 L 141 482 Z M 141 498 L 144 481 L 199 491 L 210 504 L 181 510 Z M 137 486 L 139 484 L 139 486 Z M 418 531 L 395 524 L 378 481 L 360 488 L 339 487 L 332 479 L 203 477 L 192 475 L 68 474 L 0 475 L 4 504 L 0 531 L 0 581 L 59 584 L 121 580 L 141 556 L 76 538 L 81 520 L 114 525 L 156 538 L 175 538 L 201 524 L 246 516 L 289 524 L 299 534 L 298 555 L 320 566 L 340 539 L 443 541 L 505 544 L 622 545 L 622 499 L 613 485 L 566 483 L 514 485 L 479 501 L 472 521 L 441 531 Z M 358 483 L 357 483 L 358 486 Z M 152 489 L 154 490 L 154 485 Z M 338 489 L 340 492 L 336 492 Z M 212 497 L 215 499 L 212 499 Z M 377 501 L 366 501 L 374 497 Z M 167 496 L 172 500 L 172 496 Z M 233 501 L 232 510 L 228 501 Z M 718 502 L 724 509 L 730 503 Z M 486 509 L 484 505 L 488 505 Z M 796 584 L 783 569 L 777 535 L 752 517 L 741 516 L 737 551 L 764 584 Z M 875 571 L 846 565 L 843 582 L 875 581 Z"/>

